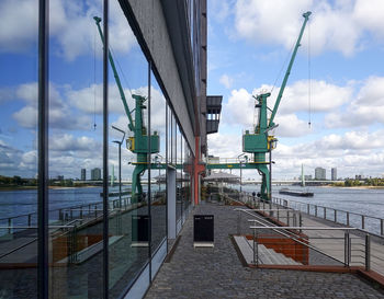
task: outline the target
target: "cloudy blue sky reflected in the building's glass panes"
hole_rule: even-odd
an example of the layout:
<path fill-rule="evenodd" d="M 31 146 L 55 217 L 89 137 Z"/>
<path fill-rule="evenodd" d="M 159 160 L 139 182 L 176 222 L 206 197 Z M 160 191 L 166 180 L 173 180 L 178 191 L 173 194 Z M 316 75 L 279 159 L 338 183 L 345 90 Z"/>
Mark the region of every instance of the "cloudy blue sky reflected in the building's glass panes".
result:
<path fill-rule="evenodd" d="M 49 1 L 49 177 L 87 177 L 102 169 L 102 43 L 93 16 L 102 1 Z M 37 173 L 37 8 L 36 0 L 0 1 L 0 175 Z M 148 93 L 148 64 L 117 1 L 110 1 L 110 44 L 129 110 L 131 93 Z M 110 69 L 109 165 L 117 176 L 114 140 L 127 129 L 127 117 Z M 151 73 L 153 128 L 165 157 L 166 100 Z M 147 119 L 145 111 L 145 119 Z M 95 124 L 95 126 L 94 126 Z M 122 145 L 123 180 L 131 179 L 135 157 Z"/>

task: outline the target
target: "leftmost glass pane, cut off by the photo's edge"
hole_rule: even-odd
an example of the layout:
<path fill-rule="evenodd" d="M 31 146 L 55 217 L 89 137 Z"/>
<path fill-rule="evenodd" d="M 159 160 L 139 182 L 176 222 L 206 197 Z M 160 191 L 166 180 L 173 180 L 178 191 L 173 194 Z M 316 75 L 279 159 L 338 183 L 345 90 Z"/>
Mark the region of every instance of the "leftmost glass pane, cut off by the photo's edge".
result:
<path fill-rule="evenodd" d="M 36 298 L 38 1 L 0 18 L 0 298 Z"/>

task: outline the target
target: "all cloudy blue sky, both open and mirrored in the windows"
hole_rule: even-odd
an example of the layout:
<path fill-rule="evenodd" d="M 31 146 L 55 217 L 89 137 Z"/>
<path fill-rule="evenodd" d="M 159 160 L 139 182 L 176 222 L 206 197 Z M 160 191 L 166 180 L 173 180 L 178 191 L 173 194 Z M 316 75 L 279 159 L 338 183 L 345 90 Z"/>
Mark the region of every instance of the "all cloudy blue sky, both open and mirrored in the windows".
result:
<path fill-rule="evenodd" d="M 3 175 L 37 173 L 37 2 L 0 1 Z M 148 92 L 147 62 L 117 1 L 110 3 L 110 42 L 132 110 L 131 92 Z M 302 164 L 305 174 L 314 175 L 316 166 L 327 169 L 327 177 L 331 168 L 338 169 L 339 177 L 384 174 L 383 1 L 207 3 L 207 93 L 224 96 L 219 131 L 208 136 L 210 154 L 241 153 L 241 135 L 255 120 L 252 95 L 272 90 L 269 106 L 273 106 L 302 13 L 310 10 L 275 118 L 273 177 L 298 176 Z M 49 175 L 79 177 L 86 168 L 89 177 L 92 168 L 102 168 L 102 46 L 93 21 L 101 15 L 102 1 L 50 0 L 49 7 Z M 160 134 L 165 157 L 165 97 L 151 78 L 153 128 Z M 112 72 L 109 87 L 110 125 L 126 129 Z M 111 126 L 109 133 L 111 141 L 122 137 Z M 123 163 L 133 160 L 123 150 Z M 116 173 L 116 143 L 110 142 L 109 161 Z M 124 168 L 123 179 L 132 170 Z M 259 177 L 255 172 L 245 175 Z"/>

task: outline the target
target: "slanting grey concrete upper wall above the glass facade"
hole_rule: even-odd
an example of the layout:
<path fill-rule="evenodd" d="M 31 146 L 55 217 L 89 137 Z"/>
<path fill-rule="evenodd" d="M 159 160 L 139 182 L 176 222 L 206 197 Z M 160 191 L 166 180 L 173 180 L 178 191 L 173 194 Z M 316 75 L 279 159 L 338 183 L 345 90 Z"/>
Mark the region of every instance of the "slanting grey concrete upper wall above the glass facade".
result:
<path fill-rule="evenodd" d="M 137 25 L 136 35 L 142 35 L 138 39 L 143 42 L 140 46 L 144 48 L 144 53 L 153 59 L 157 79 L 162 85 L 167 100 L 170 102 L 194 153 L 194 136 L 199 124 L 194 107 L 196 103 L 194 103 L 192 51 L 190 44 L 188 44 L 188 27 L 183 23 L 178 26 L 177 22 L 167 25 L 163 14 L 163 7 L 168 5 L 167 11 L 169 11 L 169 7 L 176 10 L 169 13 L 168 19 L 187 21 L 184 1 L 120 0 L 120 2 L 128 15 L 131 24 L 136 23 Z M 170 38 L 169 27 L 180 30 L 180 32 L 173 33 L 173 41 Z M 176 53 L 179 53 L 181 57 L 179 61 L 174 57 Z M 184 60 L 184 65 L 180 60 Z M 181 78 L 181 74 L 185 73 L 189 76 Z"/>

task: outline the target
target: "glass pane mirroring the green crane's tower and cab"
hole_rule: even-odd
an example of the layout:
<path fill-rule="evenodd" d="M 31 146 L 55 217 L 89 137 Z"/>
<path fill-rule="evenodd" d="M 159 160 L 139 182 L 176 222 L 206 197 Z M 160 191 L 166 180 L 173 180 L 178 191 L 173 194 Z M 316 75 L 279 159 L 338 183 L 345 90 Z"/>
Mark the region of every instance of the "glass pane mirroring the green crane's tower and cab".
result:
<path fill-rule="evenodd" d="M 123 93 L 109 61 L 109 288 L 120 298 L 149 256 L 148 61 L 118 2 L 110 5 L 110 48 Z"/>

